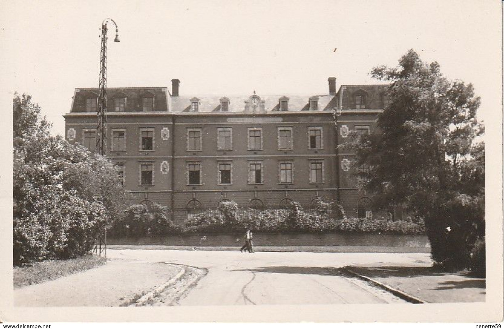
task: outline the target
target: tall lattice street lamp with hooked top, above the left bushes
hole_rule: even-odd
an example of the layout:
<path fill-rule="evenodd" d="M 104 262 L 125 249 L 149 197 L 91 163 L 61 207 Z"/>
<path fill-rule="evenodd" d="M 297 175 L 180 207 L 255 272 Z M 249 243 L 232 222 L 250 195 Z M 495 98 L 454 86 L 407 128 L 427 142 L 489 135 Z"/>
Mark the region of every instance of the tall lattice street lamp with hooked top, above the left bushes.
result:
<path fill-rule="evenodd" d="M 117 24 L 111 18 L 101 23 L 100 83 L 98 86 L 98 127 L 96 129 L 96 151 L 105 155 L 107 124 L 107 23 L 115 26 L 114 42 L 119 42 Z"/>

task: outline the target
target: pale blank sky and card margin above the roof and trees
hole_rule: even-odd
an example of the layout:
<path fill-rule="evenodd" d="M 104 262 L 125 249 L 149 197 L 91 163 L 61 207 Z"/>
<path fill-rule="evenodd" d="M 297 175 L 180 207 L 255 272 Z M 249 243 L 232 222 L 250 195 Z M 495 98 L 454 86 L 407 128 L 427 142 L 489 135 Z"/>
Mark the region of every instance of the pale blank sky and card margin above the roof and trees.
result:
<path fill-rule="evenodd" d="M 182 95 L 324 94 L 380 83 L 410 48 L 472 83 L 487 123 L 501 112 L 500 1 L 3 1 L 3 96 L 32 95 L 64 135 L 74 89 L 97 87 L 109 25 L 108 87 L 166 86 Z M 490 120 L 491 121 L 491 120 Z"/>

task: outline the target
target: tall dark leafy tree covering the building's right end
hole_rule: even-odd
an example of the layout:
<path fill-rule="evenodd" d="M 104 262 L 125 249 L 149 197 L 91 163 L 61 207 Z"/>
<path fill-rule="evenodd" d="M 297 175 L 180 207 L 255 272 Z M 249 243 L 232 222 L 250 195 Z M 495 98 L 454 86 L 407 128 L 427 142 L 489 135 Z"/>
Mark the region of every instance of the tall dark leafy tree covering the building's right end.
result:
<path fill-rule="evenodd" d="M 374 78 L 389 81 L 390 103 L 376 132 L 346 146 L 377 206 L 403 205 L 425 218 L 432 258 L 438 265 L 469 266 L 477 237 L 484 236 L 483 126 L 476 118 L 480 98 L 473 86 L 451 81 L 436 62 L 409 50 L 399 66 L 376 67 Z"/>

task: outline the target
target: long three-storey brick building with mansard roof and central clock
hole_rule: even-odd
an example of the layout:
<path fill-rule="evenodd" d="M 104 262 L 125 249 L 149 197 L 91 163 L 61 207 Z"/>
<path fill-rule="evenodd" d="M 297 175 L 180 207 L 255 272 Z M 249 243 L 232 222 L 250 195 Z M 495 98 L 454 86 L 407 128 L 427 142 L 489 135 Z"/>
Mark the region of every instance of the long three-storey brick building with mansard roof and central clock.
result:
<path fill-rule="evenodd" d="M 321 95 L 180 95 L 166 87 L 107 89 L 107 156 L 138 203 L 174 211 L 234 200 L 243 207 L 309 208 L 322 197 L 347 214 L 369 215 L 356 188 L 352 154 L 338 147 L 348 132 L 373 129 L 387 85 L 342 85 Z M 97 88 L 76 88 L 65 115 L 66 138 L 95 149 Z M 336 114 L 336 116 L 334 115 Z M 335 123 L 335 118 L 337 122 Z M 364 167 L 359 170 L 367 170 Z"/>

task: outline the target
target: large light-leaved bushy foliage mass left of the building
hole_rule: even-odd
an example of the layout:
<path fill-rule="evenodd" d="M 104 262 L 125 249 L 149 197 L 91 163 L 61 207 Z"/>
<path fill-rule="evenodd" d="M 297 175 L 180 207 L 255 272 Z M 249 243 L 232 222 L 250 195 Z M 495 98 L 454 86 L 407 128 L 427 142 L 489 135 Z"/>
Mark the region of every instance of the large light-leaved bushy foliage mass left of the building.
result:
<path fill-rule="evenodd" d="M 30 96 L 13 103 L 14 262 L 83 255 L 121 213 L 118 173 L 106 158 L 49 136 Z"/>

